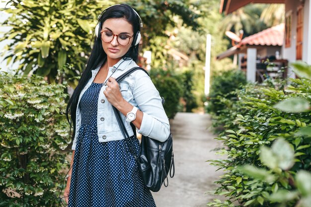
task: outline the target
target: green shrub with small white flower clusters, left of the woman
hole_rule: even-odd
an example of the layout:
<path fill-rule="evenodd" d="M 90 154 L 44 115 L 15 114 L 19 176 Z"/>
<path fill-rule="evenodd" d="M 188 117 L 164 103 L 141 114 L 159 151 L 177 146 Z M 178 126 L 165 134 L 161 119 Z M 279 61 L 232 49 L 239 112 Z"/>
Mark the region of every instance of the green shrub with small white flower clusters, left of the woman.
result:
<path fill-rule="evenodd" d="M 70 143 L 66 86 L 1 72 L 0 79 L 0 206 L 58 206 Z"/>

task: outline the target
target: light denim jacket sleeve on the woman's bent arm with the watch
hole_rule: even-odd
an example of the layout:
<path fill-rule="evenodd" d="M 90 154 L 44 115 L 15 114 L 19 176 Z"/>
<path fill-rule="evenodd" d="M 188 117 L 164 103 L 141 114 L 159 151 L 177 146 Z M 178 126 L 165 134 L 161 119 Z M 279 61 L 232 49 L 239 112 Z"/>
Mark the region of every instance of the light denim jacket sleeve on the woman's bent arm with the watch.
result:
<path fill-rule="evenodd" d="M 141 128 L 138 133 L 165 141 L 169 136 L 169 122 L 162 106 L 162 100 L 151 78 L 139 70 L 135 75 L 133 97 L 144 113 Z"/>

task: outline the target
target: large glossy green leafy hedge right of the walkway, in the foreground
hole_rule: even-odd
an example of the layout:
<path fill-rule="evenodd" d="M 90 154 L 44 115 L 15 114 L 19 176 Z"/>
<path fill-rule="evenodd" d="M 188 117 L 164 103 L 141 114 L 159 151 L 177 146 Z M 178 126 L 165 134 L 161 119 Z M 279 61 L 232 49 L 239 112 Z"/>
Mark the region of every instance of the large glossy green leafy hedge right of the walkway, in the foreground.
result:
<path fill-rule="evenodd" d="M 311 67 L 295 66 L 311 74 Z M 229 200 L 209 206 L 234 207 L 234 201 L 239 207 L 310 205 L 310 78 L 290 79 L 284 90 L 248 85 L 234 92 L 238 101 L 221 114 L 233 110 L 236 116 L 224 121 L 226 135 L 216 138 L 224 142 L 218 153 L 227 159 L 209 160 L 225 171 L 214 193 Z"/>

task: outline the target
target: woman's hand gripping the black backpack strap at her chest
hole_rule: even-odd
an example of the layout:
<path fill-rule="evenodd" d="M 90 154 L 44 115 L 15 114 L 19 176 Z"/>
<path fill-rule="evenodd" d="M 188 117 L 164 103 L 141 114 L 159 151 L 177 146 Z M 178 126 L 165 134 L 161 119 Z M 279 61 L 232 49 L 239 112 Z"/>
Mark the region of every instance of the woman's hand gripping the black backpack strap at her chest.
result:
<path fill-rule="evenodd" d="M 125 101 L 122 97 L 119 84 L 113 77 L 108 78 L 107 87 L 104 90 L 104 95 L 106 96 L 109 103 L 111 103 L 111 105 L 113 105 L 117 109 L 119 108 L 119 106 L 122 106 L 122 103 Z"/>

